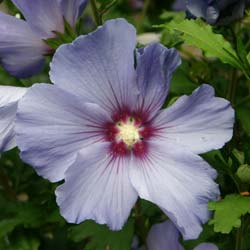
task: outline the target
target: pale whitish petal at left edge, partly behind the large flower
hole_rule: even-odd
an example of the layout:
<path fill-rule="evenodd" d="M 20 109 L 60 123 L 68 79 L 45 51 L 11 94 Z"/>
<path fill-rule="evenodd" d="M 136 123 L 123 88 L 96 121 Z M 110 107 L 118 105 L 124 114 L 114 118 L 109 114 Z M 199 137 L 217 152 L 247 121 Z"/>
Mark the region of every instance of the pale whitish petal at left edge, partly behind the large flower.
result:
<path fill-rule="evenodd" d="M 14 123 L 17 103 L 26 88 L 0 86 L 0 152 L 16 146 Z"/>

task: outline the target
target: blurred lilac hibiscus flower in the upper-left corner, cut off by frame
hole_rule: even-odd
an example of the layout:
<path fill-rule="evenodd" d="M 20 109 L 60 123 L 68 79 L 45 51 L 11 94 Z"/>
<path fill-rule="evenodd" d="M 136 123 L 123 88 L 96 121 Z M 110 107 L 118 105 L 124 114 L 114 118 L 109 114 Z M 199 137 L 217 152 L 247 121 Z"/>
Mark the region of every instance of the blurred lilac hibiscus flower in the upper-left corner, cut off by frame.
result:
<path fill-rule="evenodd" d="M 25 20 L 0 12 L 0 58 L 3 67 L 19 78 L 38 74 L 50 48 L 44 40 L 64 33 L 64 20 L 72 29 L 88 0 L 12 0 Z"/>

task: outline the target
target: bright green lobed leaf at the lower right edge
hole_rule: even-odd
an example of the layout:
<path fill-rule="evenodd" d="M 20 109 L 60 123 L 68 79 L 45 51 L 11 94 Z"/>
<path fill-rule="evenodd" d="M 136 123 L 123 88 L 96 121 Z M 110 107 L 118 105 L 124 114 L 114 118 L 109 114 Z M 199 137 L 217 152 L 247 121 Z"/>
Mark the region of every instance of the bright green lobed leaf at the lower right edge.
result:
<path fill-rule="evenodd" d="M 214 218 L 209 221 L 215 232 L 230 233 L 234 227 L 241 226 L 242 215 L 250 213 L 250 199 L 241 195 L 227 195 L 218 202 L 210 202 L 209 210 L 214 210 Z"/>

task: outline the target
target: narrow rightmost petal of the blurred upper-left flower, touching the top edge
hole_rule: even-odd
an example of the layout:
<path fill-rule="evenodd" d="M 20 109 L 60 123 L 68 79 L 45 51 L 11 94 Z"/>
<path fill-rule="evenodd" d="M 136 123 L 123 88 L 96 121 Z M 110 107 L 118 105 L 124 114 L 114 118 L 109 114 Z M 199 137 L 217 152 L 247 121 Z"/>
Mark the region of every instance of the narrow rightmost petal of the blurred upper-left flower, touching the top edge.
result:
<path fill-rule="evenodd" d="M 76 25 L 78 17 L 88 4 L 88 0 L 59 0 L 63 15 L 71 27 Z"/>

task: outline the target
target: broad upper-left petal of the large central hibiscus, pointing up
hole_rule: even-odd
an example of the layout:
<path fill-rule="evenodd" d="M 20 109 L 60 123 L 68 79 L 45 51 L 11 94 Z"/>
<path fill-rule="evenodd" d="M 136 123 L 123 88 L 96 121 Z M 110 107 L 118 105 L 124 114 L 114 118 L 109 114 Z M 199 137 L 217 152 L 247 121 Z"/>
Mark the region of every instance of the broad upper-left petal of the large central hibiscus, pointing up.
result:
<path fill-rule="evenodd" d="M 61 46 L 50 77 L 60 88 L 108 111 L 135 101 L 136 32 L 124 19 L 107 21 L 97 31 Z"/>

